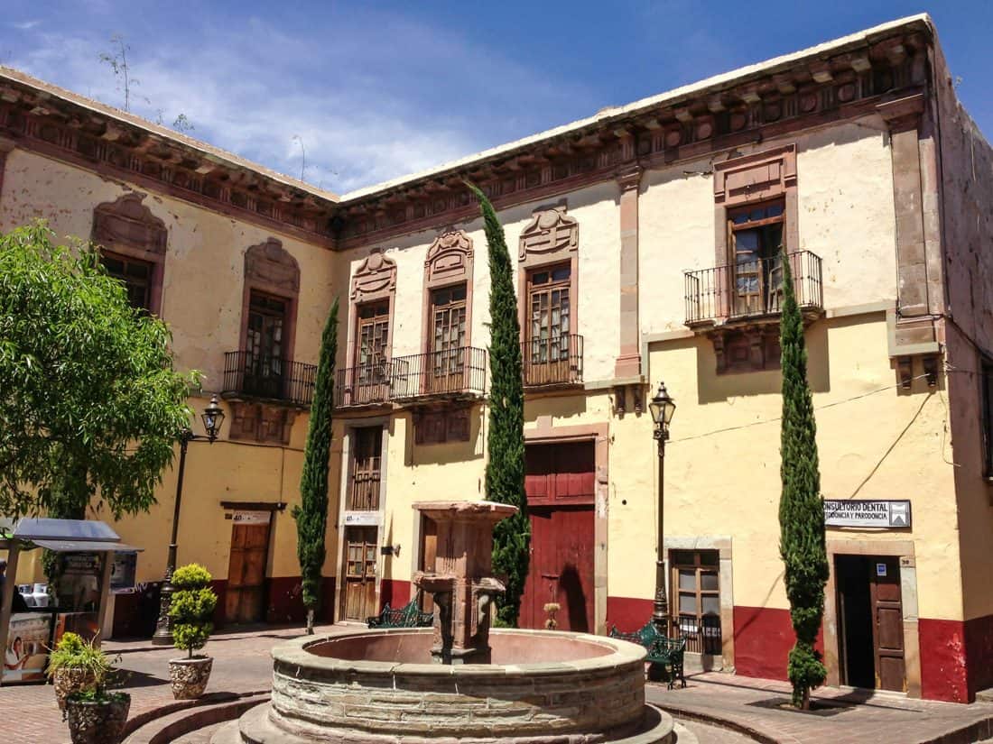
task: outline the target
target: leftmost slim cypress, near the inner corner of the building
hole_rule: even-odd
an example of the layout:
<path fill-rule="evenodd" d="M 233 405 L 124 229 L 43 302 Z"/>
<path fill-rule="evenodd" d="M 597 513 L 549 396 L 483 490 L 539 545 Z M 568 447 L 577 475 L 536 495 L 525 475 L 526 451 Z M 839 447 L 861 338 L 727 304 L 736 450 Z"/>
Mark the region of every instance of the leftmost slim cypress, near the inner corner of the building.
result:
<path fill-rule="evenodd" d="M 321 335 L 321 358 L 314 383 L 310 427 L 300 476 L 300 506 L 293 507 L 297 521 L 297 558 L 303 577 L 307 634 L 314 634 L 314 612 L 321 605 L 321 568 L 328 526 L 328 462 L 331 457 L 331 410 L 335 399 L 335 356 L 338 353 L 338 298 Z"/>

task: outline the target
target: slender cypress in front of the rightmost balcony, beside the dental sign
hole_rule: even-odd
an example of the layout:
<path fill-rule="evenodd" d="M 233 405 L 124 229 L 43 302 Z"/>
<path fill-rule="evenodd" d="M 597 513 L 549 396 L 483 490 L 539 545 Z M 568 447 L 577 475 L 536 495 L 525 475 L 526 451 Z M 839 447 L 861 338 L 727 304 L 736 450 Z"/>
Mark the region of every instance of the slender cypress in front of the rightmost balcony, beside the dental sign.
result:
<path fill-rule="evenodd" d="M 810 690 L 823 683 L 827 675 L 813 644 L 824 614 L 828 563 L 817 428 L 806 379 L 803 318 L 796 305 L 792 272 L 784 251 L 780 257 L 783 274 L 780 557 L 785 567 L 789 617 L 796 634 L 787 665 L 789 682 L 793 685 L 793 704 L 805 710 L 810 704 Z"/>

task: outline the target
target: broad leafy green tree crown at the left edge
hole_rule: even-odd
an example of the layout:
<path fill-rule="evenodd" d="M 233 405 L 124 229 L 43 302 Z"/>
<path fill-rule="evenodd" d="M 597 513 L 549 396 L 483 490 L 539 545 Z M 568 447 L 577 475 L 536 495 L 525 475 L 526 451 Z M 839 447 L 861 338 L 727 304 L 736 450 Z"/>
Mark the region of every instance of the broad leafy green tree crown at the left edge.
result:
<path fill-rule="evenodd" d="M 0 514 L 146 511 L 189 426 L 168 326 L 97 250 L 38 221 L 0 235 Z"/>

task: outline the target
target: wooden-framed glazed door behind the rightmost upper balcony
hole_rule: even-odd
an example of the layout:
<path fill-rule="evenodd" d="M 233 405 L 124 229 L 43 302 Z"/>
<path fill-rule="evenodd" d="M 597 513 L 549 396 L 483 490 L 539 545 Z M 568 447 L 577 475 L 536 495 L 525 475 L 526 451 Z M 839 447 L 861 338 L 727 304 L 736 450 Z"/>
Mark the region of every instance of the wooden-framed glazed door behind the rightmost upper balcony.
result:
<path fill-rule="evenodd" d="M 782 199 L 728 209 L 732 314 L 780 311 L 784 229 Z"/>

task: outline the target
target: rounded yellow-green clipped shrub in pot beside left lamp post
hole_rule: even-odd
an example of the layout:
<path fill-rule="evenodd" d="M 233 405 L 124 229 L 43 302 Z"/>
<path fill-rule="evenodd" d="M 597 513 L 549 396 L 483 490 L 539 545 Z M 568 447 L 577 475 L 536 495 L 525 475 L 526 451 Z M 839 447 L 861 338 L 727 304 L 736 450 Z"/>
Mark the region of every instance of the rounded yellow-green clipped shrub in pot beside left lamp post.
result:
<path fill-rule="evenodd" d="M 199 563 L 190 563 L 173 573 L 174 587 L 169 616 L 173 620 L 173 645 L 186 651 L 185 659 L 169 661 L 169 677 L 177 700 L 193 700 L 204 694 L 211 679 L 213 659 L 194 656 L 207 645 L 213 631 L 213 608 L 217 595 L 211 588 L 211 572 Z"/>

